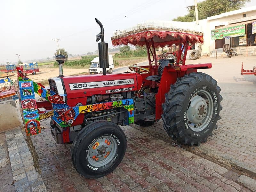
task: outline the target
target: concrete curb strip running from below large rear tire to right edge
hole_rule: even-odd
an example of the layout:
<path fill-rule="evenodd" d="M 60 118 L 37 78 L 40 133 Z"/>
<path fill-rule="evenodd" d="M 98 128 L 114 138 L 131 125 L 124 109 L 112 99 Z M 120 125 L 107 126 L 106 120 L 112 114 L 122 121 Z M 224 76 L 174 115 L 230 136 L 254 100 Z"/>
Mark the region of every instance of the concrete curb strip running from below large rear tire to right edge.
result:
<path fill-rule="evenodd" d="M 182 146 L 182 148 L 210 161 L 217 162 L 217 164 L 220 164 L 221 166 L 241 171 L 247 176 L 253 177 L 254 179 L 256 178 L 256 167 L 244 163 L 243 161 L 239 161 L 227 153 L 223 153 L 205 145 L 201 145 L 200 147 Z"/>

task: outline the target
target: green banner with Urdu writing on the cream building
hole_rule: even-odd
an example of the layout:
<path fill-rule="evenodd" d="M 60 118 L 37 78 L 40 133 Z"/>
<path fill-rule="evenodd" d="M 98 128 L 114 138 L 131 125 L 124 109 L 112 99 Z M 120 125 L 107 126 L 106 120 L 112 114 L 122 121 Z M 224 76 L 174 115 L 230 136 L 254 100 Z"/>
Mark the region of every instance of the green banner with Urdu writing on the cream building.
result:
<path fill-rule="evenodd" d="M 244 25 L 237 25 L 234 27 L 227 27 L 222 29 L 215 29 L 211 31 L 212 40 L 223 39 L 228 37 L 238 37 L 245 35 Z"/>

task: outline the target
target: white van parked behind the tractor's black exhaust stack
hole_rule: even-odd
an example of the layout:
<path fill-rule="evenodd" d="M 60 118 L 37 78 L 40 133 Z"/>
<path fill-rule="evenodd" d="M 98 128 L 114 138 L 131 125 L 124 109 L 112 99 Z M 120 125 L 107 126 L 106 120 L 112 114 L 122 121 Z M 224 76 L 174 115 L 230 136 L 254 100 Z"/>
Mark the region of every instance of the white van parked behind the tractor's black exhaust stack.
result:
<path fill-rule="evenodd" d="M 91 66 L 88 70 L 88 72 L 92 75 L 92 74 L 102 74 L 102 68 L 100 68 L 100 62 L 99 62 L 99 57 L 95 57 L 92 61 L 91 61 Z M 113 56 L 112 55 L 108 55 L 108 68 L 106 68 L 106 71 L 108 73 L 112 73 L 114 68 L 114 63 L 113 63 Z"/>

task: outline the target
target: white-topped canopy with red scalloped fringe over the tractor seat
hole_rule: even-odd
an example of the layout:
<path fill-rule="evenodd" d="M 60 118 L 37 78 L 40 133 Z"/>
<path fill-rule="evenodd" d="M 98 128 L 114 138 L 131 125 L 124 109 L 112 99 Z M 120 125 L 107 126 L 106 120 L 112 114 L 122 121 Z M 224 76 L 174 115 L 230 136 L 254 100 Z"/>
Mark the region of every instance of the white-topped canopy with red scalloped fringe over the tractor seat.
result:
<path fill-rule="evenodd" d="M 111 37 L 112 45 L 144 45 L 146 40 L 153 38 L 154 47 L 164 47 L 172 44 L 185 44 L 186 41 L 203 43 L 203 32 L 194 31 L 196 26 L 179 28 L 177 21 L 147 21 L 123 31 L 117 30 Z"/>

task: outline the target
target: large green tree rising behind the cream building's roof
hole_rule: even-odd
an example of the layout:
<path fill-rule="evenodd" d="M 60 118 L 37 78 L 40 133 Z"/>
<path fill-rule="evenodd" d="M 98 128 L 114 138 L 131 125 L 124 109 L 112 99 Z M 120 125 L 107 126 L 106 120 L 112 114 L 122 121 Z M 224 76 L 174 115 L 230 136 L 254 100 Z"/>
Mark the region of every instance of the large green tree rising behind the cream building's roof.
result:
<path fill-rule="evenodd" d="M 246 2 L 251 0 L 205 0 L 197 3 L 198 6 L 198 18 L 199 20 L 206 19 L 207 17 L 219 15 L 224 12 L 234 11 L 241 9 L 245 6 Z M 191 6 L 192 9 L 188 11 L 185 16 L 179 16 L 173 21 L 195 21 L 195 7 Z M 192 17 L 193 16 L 193 17 Z"/>

